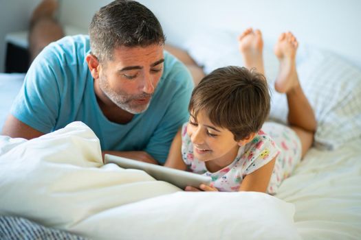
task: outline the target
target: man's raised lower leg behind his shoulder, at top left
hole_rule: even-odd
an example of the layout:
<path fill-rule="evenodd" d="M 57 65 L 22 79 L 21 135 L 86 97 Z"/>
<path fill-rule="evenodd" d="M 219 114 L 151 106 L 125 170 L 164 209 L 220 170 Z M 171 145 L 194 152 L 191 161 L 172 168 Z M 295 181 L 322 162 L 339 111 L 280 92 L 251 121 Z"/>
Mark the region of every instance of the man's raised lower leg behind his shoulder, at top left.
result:
<path fill-rule="evenodd" d="M 57 9 L 58 1 L 43 0 L 32 14 L 29 31 L 31 62 L 49 43 L 64 36 L 63 27 L 54 19 Z"/>

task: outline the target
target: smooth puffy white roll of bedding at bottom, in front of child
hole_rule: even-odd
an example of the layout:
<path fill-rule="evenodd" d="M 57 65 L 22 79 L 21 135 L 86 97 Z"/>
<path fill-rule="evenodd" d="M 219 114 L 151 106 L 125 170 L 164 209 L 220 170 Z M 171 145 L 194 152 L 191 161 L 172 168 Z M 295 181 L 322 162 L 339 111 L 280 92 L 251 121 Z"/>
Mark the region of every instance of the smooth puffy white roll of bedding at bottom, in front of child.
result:
<path fill-rule="evenodd" d="M 293 217 L 293 204 L 265 193 L 178 192 L 109 209 L 72 232 L 94 239 L 300 239 Z"/>

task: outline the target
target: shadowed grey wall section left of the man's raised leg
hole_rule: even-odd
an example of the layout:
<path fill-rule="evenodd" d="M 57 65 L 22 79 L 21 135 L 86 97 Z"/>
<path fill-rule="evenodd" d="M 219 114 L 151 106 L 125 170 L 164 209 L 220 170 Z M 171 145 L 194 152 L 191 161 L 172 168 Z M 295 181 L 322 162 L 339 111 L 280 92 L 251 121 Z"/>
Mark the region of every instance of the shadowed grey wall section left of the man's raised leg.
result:
<path fill-rule="evenodd" d="M 27 30 L 32 10 L 40 0 L 0 0 L 0 73 L 5 71 L 5 36 Z"/>

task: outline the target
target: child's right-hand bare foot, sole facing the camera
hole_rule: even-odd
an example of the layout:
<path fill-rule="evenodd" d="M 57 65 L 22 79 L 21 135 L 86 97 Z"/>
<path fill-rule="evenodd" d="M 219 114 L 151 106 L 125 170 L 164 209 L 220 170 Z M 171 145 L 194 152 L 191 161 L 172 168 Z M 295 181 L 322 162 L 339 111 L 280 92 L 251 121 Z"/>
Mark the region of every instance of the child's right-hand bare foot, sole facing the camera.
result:
<path fill-rule="evenodd" d="M 298 42 L 291 32 L 282 33 L 274 46 L 274 54 L 280 61 L 280 69 L 274 88 L 278 93 L 287 93 L 300 86 L 296 71 L 296 51 Z"/>

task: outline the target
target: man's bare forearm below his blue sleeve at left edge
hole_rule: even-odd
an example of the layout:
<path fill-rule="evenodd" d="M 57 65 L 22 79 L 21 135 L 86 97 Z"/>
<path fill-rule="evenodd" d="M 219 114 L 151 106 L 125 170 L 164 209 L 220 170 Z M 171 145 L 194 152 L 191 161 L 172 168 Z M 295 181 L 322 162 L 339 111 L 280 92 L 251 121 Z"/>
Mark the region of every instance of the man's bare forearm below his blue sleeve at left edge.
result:
<path fill-rule="evenodd" d="M 44 133 L 35 130 L 22 121 L 19 121 L 19 119 L 13 115 L 9 115 L 3 125 L 1 134 L 12 138 L 34 139 L 38 136 L 42 136 Z"/>

